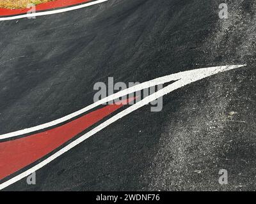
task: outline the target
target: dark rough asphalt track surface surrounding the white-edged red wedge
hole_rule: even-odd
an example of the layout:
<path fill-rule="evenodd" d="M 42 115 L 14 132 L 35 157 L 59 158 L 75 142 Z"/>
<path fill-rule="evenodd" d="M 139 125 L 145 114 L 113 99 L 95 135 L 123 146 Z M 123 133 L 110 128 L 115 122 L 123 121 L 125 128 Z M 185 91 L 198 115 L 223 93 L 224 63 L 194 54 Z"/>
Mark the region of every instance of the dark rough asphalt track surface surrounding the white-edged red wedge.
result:
<path fill-rule="evenodd" d="M 256 187 L 256 3 L 109 0 L 0 22 L 0 134 L 93 103 L 93 85 L 248 64 L 188 85 L 124 117 L 7 187 L 15 191 L 253 191 Z M 228 185 L 218 171 L 228 170 Z"/>

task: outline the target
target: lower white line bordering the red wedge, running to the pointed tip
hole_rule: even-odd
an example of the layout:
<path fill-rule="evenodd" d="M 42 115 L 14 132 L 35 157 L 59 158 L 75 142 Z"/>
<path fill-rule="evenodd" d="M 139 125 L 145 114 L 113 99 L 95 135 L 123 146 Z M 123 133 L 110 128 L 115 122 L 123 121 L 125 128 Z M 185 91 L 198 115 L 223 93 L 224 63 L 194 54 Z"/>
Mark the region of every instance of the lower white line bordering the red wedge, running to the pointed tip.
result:
<path fill-rule="evenodd" d="M 160 97 L 162 97 L 162 96 L 164 96 L 164 95 L 166 95 L 166 94 L 168 94 L 168 93 L 170 93 L 170 92 L 172 92 L 176 89 L 179 89 L 180 87 L 184 87 L 184 85 L 191 84 L 193 82 L 196 82 L 196 81 L 201 80 L 203 78 L 209 77 L 211 75 L 216 75 L 217 73 L 220 73 L 220 72 L 223 72 L 223 71 L 228 71 L 228 70 L 231 70 L 231 69 L 240 68 L 242 66 L 245 66 L 245 65 L 220 66 L 220 67 L 214 67 L 214 68 L 195 69 L 195 70 L 191 70 L 191 71 L 184 71 L 182 73 L 177 73 L 177 74 L 166 76 L 166 77 L 173 78 L 173 80 L 179 78 L 179 80 L 177 82 L 174 82 L 173 84 L 170 84 L 170 85 L 164 87 L 160 91 L 155 92 L 154 94 L 148 96 L 147 98 L 142 99 L 141 101 L 139 101 L 135 105 L 130 106 L 129 108 L 125 109 L 124 111 L 122 111 L 120 113 L 117 113 L 115 116 L 106 120 L 105 122 L 103 122 L 102 124 L 100 124 L 96 128 L 92 129 L 88 133 L 84 134 L 80 138 L 77 138 L 77 140 L 74 140 L 74 142 L 68 144 L 66 147 L 63 147 L 63 149 L 61 149 L 58 152 L 52 154 L 52 156 L 48 157 L 47 159 L 45 159 L 41 163 L 36 164 L 35 166 L 30 168 L 29 170 L 26 170 L 23 173 L 20 173 L 19 175 L 13 177 L 12 179 L 7 180 L 3 184 L 0 184 L 0 189 L 4 189 L 5 187 L 10 186 L 11 184 L 17 182 L 18 180 L 23 179 L 24 177 L 28 177 L 31 173 L 39 170 L 40 168 L 42 168 L 46 164 L 50 163 L 51 161 L 53 161 L 57 157 L 61 156 L 62 154 L 64 154 L 68 150 L 72 149 L 73 147 L 76 147 L 76 145 L 78 145 L 79 143 L 83 142 L 84 140 L 90 138 L 90 136 L 95 135 L 95 133 L 98 133 L 100 130 L 108 127 L 110 124 L 112 124 L 116 120 L 122 119 L 122 117 L 124 117 L 125 115 L 128 115 L 129 113 L 134 112 L 138 108 L 141 108 L 142 106 L 147 105 L 148 103 L 156 100 L 157 98 L 160 98 Z M 156 80 L 158 80 L 158 79 L 156 79 Z M 154 81 L 154 80 L 152 80 L 152 81 Z M 149 81 L 149 82 L 152 82 L 152 81 Z M 147 88 L 148 87 L 147 84 L 149 82 L 145 82 L 146 84 L 143 83 L 143 84 L 146 85 L 146 87 L 142 87 L 142 89 Z M 112 97 L 111 99 L 115 99 L 115 97 Z"/>

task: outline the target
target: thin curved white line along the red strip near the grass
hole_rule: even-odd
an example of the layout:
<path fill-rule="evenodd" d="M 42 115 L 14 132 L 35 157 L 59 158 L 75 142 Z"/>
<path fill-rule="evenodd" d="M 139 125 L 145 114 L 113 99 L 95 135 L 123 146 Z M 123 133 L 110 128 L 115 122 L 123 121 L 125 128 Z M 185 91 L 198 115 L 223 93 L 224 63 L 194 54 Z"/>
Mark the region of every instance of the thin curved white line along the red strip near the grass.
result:
<path fill-rule="evenodd" d="M 0 21 L 3 20 L 15 20 L 15 19 L 20 19 L 20 18 L 29 18 L 29 17 L 39 17 L 42 15 L 52 15 L 52 14 L 56 14 L 56 13 L 63 13 L 63 12 L 67 12 L 67 11 L 73 11 L 73 10 L 77 10 L 80 8 L 85 8 L 88 6 L 92 6 L 95 4 L 100 4 L 103 3 L 105 1 L 109 1 L 109 0 L 98 0 L 98 1 L 93 1 L 90 3 L 85 3 L 85 4 L 81 4 L 81 5 L 77 5 L 77 6 L 70 6 L 68 8 L 60 8 L 58 10 L 52 10 L 52 11 L 41 11 L 41 12 L 37 12 L 37 13 L 26 13 L 26 14 L 22 14 L 22 15 L 15 15 L 13 17 L 1 17 Z"/>

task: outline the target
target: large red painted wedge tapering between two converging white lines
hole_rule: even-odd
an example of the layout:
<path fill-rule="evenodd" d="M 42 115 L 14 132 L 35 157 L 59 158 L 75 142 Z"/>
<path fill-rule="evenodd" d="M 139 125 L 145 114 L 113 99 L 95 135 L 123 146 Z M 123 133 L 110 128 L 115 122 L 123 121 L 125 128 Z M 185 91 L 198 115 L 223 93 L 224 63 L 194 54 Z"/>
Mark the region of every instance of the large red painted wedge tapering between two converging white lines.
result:
<path fill-rule="evenodd" d="M 128 99 L 125 103 L 132 100 Z M 125 103 L 108 105 L 57 128 L 0 143 L 0 179 L 4 179 L 49 154 L 77 134 L 121 108 Z"/>

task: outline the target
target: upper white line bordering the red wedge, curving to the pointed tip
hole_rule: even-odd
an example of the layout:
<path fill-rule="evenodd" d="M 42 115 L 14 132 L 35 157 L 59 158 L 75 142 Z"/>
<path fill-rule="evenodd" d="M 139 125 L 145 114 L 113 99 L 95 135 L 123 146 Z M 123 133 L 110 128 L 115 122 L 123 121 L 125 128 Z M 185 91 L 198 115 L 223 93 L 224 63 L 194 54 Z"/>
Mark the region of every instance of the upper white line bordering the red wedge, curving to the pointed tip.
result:
<path fill-rule="evenodd" d="M 144 82 L 142 84 L 135 85 L 133 87 L 130 87 L 129 89 L 125 89 L 124 91 L 117 92 L 116 94 L 113 94 L 113 95 L 108 96 L 104 99 L 101 99 L 100 101 L 97 101 L 96 103 L 93 103 L 92 105 L 86 106 L 85 108 L 83 108 L 81 110 L 78 110 L 77 112 L 66 115 L 65 117 L 61 117 L 60 119 L 53 120 L 51 122 L 47 122 L 45 124 L 41 124 L 39 126 L 35 126 L 35 127 L 32 127 L 32 128 L 26 128 L 26 129 L 22 129 L 22 130 L 19 130 L 19 131 L 14 131 L 12 133 L 6 133 L 4 135 L 0 135 L 0 140 L 6 139 L 6 138 L 12 138 L 13 136 L 28 134 L 28 133 L 31 133 L 31 132 L 34 132 L 34 131 L 38 131 L 40 129 L 49 128 L 51 126 L 56 126 L 56 125 L 58 125 L 62 122 L 65 122 L 65 121 L 70 120 L 74 117 L 77 117 L 77 115 L 81 115 L 84 112 L 87 112 L 88 110 L 92 110 L 93 108 L 95 108 L 99 105 L 102 105 L 104 103 L 108 103 L 109 101 L 112 101 L 113 99 L 117 99 L 117 98 L 120 98 L 122 96 L 126 96 L 128 94 L 131 94 L 133 92 L 141 91 L 143 89 L 147 89 L 149 87 L 153 87 L 153 86 L 156 86 L 156 85 L 159 85 L 159 84 L 166 84 L 168 82 L 179 80 L 180 78 L 188 78 L 188 76 L 193 74 L 193 73 L 198 73 L 198 75 L 200 75 L 200 73 L 204 73 L 206 70 L 210 70 L 210 69 L 216 69 L 216 68 L 217 69 L 223 69 L 223 68 L 227 68 L 227 67 L 239 68 L 239 67 L 242 67 L 242 66 L 244 66 L 244 65 L 202 68 L 202 69 L 195 69 L 195 70 L 190 70 L 190 71 L 183 71 L 183 72 L 175 73 L 175 74 L 168 75 L 168 76 L 165 76 L 165 77 L 159 77 L 159 78 L 156 78 L 154 80 L 150 80 L 148 82 Z"/>

